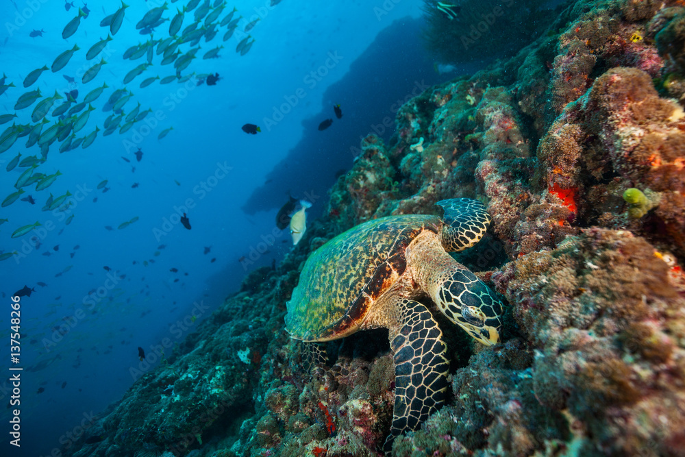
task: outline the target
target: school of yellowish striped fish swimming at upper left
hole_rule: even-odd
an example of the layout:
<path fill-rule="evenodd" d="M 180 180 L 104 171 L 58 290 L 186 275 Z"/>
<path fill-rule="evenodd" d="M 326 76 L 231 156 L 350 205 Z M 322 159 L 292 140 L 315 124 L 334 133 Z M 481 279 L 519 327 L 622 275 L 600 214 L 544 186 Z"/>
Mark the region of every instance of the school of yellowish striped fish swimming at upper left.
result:
<path fill-rule="evenodd" d="M 177 1 L 179 0 L 171 0 L 171 3 L 177 3 Z M 124 21 L 129 5 L 123 1 L 121 7 L 111 14 L 106 14 L 103 8 L 99 25 L 103 29 L 104 38 L 94 40 L 95 42 L 82 42 L 81 46 L 77 44 L 65 46 L 68 49 L 57 55 L 53 62 L 45 62 L 40 68 L 28 73 L 21 81 L 18 79 L 9 81 L 3 72 L 0 78 L 0 95 L 4 94 L 10 100 L 16 101 L 13 104 L 14 112 L 0 112 L 0 125 L 12 122 L 12 125 L 5 127 L 0 134 L 0 154 L 6 153 L 13 156 L 5 160 L 8 162 L 5 166 L 6 172 L 9 173 L 15 168 L 25 170 L 14 184 L 16 190 L 4 198 L 0 196 L 2 208 L 16 205 L 17 201 L 27 201 L 33 205 L 42 195 L 45 197 L 43 211 L 68 210 L 71 206 L 69 191 L 58 197 L 49 193 L 50 186 L 59 179 L 62 172 L 57 170 L 55 173 L 43 173 L 40 170 L 41 166 L 47 162 L 51 151 L 68 153 L 79 147 L 86 149 L 95 143 L 100 132 L 101 136 L 108 136 L 117 131 L 119 134 L 125 134 L 137 123 L 143 121 L 153 110 L 142 108 L 140 102 L 134 106 L 136 99 L 132 90 L 127 88 L 129 84 L 136 84 L 138 88 L 143 89 L 155 83 L 185 83 L 192 78 L 197 80 L 197 84 L 203 84 L 208 77 L 212 78 L 212 75 L 195 74 L 190 67 L 199 55 L 203 60 L 221 57 L 219 53 L 224 47 L 219 45 L 199 54 L 201 43 L 206 45 L 215 39 L 227 42 L 234 38 L 238 41 L 236 53 L 239 55 L 248 53 L 255 43 L 251 33 L 255 32 L 260 18 L 254 18 L 255 15 L 243 18 L 235 7 L 228 7 L 226 0 L 188 0 L 184 5 L 177 5 L 175 12 L 170 11 L 169 3 L 166 1 L 161 5 L 158 2 L 156 6 L 154 3 L 153 1 L 147 3 L 149 10 L 137 22 L 130 21 L 131 18 Z M 280 0 L 271 0 L 272 6 L 278 3 Z M 92 17 L 95 16 L 85 2 L 81 8 L 75 7 L 73 1 L 66 1 L 64 6 L 67 12 L 72 8 L 77 12 L 75 17 L 64 25 L 61 38 L 51 39 L 67 40 L 78 32 L 79 25 L 83 21 L 89 19 L 92 21 Z M 120 29 L 125 24 L 131 23 L 135 23 L 135 29 L 140 35 L 149 36 L 149 38 L 129 47 L 123 53 L 123 58 L 132 62 L 132 68 L 121 81 L 111 79 L 104 81 L 101 69 L 108 64 L 105 58 L 110 58 L 104 51 L 110 42 L 116 41 L 114 37 Z M 43 34 L 47 34 L 44 29 L 34 29 L 29 36 L 40 40 Z M 88 61 L 87 65 L 90 67 L 82 71 L 80 77 L 63 75 L 69 83 L 69 92 L 60 93 L 55 90 L 53 94 L 43 94 L 40 88 L 31 89 L 36 86 L 44 72 L 62 71 L 68 66 L 73 56 L 79 53 L 84 54 Z M 138 60 L 142 63 L 136 62 Z M 151 66 L 160 69 L 162 74 L 149 75 Z M 216 81 L 215 77 L 214 81 Z M 20 87 L 27 91 L 21 93 Z M 80 100 L 79 90 L 86 93 Z M 108 96 L 103 96 L 105 90 L 111 90 Z M 10 105 L 11 103 L 8 103 L 6 106 Z M 29 110 L 31 107 L 33 109 Z M 103 112 L 111 111 L 111 114 L 101 125 L 92 125 L 90 114 L 97 109 Z M 173 127 L 163 129 L 158 134 L 158 139 L 162 140 L 172 131 Z M 26 138 L 25 143 L 21 138 Z M 19 149 L 19 151 L 14 153 L 12 149 Z M 142 157 L 140 149 L 136 156 L 140 162 Z M 135 168 L 132 171 L 135 171 Z M 101 188 L 99 187 L 102 192 L 109 190 L 106 180 L 104 183 Z M 23 196 L 27 191 L 31 191 L 29 186 L 35 186 L 36 193 L 40 193 L 35 199 L 33 195 Z M 94 201 L 97 201 L 97 197 Z M 2 230 L 4 223 L 8 223 L 7 226 L 10 227 L 11 238 L 25 236 L 36 227 L 40 227 L 40 221 L 36 221 L 39 215 L 29 216 L 31 214 L 29 211 L 26 214 L 26 217 L 31 220 L 0 219 L 0 232 L 5 232 Z M 64 223 L 69 225 L 73 217 L 74 214 L 71 214 Z M 125 221 L 119 225 L 119 228 L 123 229 L 132 222 L 133 220 Z M 0 251 L 0 260 L 7 260 L 14 254 L 16 254 L 14 251 Z"/>

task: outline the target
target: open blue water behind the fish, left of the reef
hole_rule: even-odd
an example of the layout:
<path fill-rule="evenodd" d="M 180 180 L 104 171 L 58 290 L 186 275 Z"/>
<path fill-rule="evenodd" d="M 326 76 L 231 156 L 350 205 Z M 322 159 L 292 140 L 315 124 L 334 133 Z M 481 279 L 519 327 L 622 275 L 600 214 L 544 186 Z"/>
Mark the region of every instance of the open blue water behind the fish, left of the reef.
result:
<path fill-rule="evenodd" d="M 97 125 L 101 131 L 95 143 L 64 153 L 58 150 L 60 143 L 53 143 L 35 171 L 49 175 L 59 170 L 62 176 L 46 190 L 25 188 L 21 197 L 32 195 L 35 205 L 17 200 L 0 209 L 0 219 L 9 220 L 0 225 L 0 249 L 20 253 L 0 262 L 5 303 L 0 312 L 5 354 L 0 398 L 8 406 L 0 419 L 6 449 L 2 455 L 48 455 L 68 441 L 69 433 L 77 432 L 84 418 L 121 399 L 140 373 L 159 363 L 140 362 L 139 346 L 149 354 L 162 341 L 182 341 L 237 291 L 247 272 L 270 265 L 292 248 L 287 232 L 274 232 L 275 214 L 288 193 L 297 198 L 306 198 L 308 192 L 318 195 L 310 217 L 321 214 L 326 189 L 336 171 L 351 166 L 360 136 L 375 132 L 389 138 L 391 128 L 378 132 L 374 126 L 386 116 L 393 118 L 396 102 L 456 75 L 435 73 L 435 62 L 423 49 L 421 1 L 284 0 L 275 7 L 269 0 L 231 1 L 220 20 L 234 5 L 236 18 L 261 18 L 250 32 L 255 39 L 251 50 L 243 56 L 235 52 L 246 36 L 240 32 L 247 23 L 243 19 L 227 42 L 222 41 L 225 27 L 211 42 L 202 40 L 198 58 L 182 71 L 219 73 L 216 86 L 190 79 L 164 86 L 156 81 L 141 89 L 147 77 L 174 73 L 173 65 L 160 65 L 161 56 L 155 53 L 153 65 L 126 85 L 134 97 L 123 108 L 128 113 L 140 102 L 141 110 L 153 112 L 129 132 L 103 137 L 103 121 L 112 114 L 103 112 L 105 102 L 124 87 L 126 73 L 145 62 L 145 57 L 132 62 L 122 55 L 149 39 L 138 34 L 135 25 L 161 2 L 132 0 L 114 40 L 90 61 L 86 51 L 109 32 L 99 22 L 121 3 L 90 1 L 90 16 L 66 40 L 62 29 L 77 11 L 66 11 L 64 3 L 0 3 L 0 73 L 7 75 L 5 84 L 16 86 L 0 96 L 0 115 L 14 113 L 18 97 L 36 88 L 44 97 L 76 88 L 81 101 L 103 82 L 110 86 L 93 103 L 96 109 L 77 134 L 82 137 Z M 173 17 L 176 7 L 185 3 L 172 3 L 162 17 Z M 192 16 L 186 13 L 183 27 L 192 23 Z M 45 33 L 29 36 L 34 29 Z M 160 25 L 154 38 L 166 38 L 168 30 L 169 22 Z M 29 72 L 51 66 L 75 44 L 81 50 L 64 69 L 45 71 L 38 82 L 23 88 Z M 225 47 L 220 58 L 202 59 L 219 45 Z M 190 45 L 179 49 L 186 52 Z M 80 84 L 79 75 L 101 56 L 108 63 L 95 79 Z M 70 86 L 63 75 L 76 77 L 79 84 Z M 17 112 L 17 125 L 34 124 L 30 117 L 38 101 Z M 335 119 L 334 103 L 340 103 L 343 119 Z M 334 119 L 333 125 L 319 132 L 316 126 L 327 118 Z M 55 121 L 51 114 L 46 119 L 50 123 L 43 132 Z M 245 123 L 260 125 L 262 132 L 245 134 L 240 129 Z M 0 132 L 11 125 L 1 125 Z M 173 130 L 168 136 L 158 140 L 169 127 Z M 17 153 L 40 157 L 38 146 L 25 147 L 27 138 L 18 138 L 0 154 L 0 199 L 16 190 L 14 183 L 26 170 L 6 171 L 10 160 Z M 144 153 L 140 162 L 134 156 L 138 147 Z M 108 180 L 106 193 L 97 190 L 103 180 Z M 50 193 L 57 197 L 67 190 L 73 194 L 71 206 L 41 211 Z M 179 223 L 184 212 L 192 230 Z M 73 221 L 66 225 L 71 214 Z M 134 217 L 139 219 L 119 230 Z M 38 230 L 10 237 L 18 227 L 36 221 L 42 224 Z M 269 252 L 249 265 L 239 261 L 262 247 L 270 234 L 276 239 Z M 211 248 L 208 254 L 206 247 Z M 25 285 L 35 292 L 21 298 L 21 351 L 13 364 L 10 297 Z M 21 405 L 11 408 L 21 409 L 21 449 L 8 445 L 9 367 L 23 368 Z"/>

